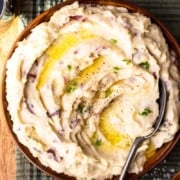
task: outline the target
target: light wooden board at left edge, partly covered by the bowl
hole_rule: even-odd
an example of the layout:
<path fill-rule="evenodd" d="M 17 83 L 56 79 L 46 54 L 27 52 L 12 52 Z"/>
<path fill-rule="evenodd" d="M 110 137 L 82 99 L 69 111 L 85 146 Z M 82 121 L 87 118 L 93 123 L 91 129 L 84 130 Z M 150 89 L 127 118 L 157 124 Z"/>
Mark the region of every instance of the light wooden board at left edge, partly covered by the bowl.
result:
<path fill-rule="evenodd" d="M 18 35 L 18 17 L 9 23 L 0 21 L 0 81 L 7 55 Z M 0 95 L 1 96 L 1 95 Z M 1 97 L 0 97 L 1 98 Z M 2 106 L 0 104 L 0 106 Z M 0 179 L 16 179 L 16 145 L 0 111 Z"/>

